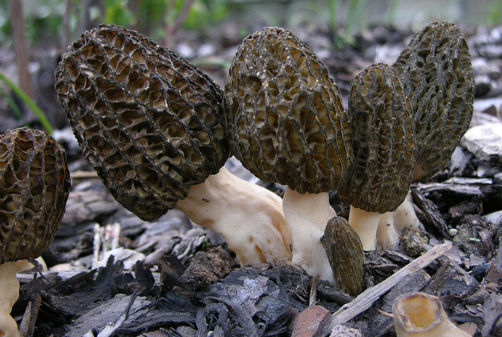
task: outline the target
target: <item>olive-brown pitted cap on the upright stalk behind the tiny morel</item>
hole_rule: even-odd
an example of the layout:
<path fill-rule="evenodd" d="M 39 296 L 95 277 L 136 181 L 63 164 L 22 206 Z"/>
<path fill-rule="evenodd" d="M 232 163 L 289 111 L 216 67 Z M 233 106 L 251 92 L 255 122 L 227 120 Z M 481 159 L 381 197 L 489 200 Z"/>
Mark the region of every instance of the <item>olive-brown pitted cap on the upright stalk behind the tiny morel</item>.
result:
<path fill-rule="evenodd" d="M 225 86 L 233 154 L 265 182 L 334 190 L 352 163 L 338 87 L 291 32 L 264 28 L 238 48 Z"/>

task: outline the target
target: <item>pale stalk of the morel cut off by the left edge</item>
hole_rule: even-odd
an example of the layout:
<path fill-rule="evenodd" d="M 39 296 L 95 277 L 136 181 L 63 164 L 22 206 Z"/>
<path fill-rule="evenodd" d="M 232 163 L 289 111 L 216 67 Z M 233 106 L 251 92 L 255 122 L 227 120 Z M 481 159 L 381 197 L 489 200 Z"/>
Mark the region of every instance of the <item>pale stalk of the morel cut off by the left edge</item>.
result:
<path fill-rule="evenodd" d="M 18 324 L 11 316 L 12 306 L 18 300 L 19 281 L 16 278 L 16 264 L 0 264 L 0 336 L 22 337 Z"/>

